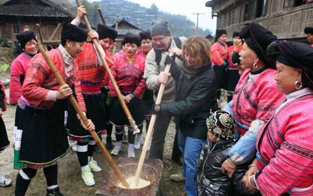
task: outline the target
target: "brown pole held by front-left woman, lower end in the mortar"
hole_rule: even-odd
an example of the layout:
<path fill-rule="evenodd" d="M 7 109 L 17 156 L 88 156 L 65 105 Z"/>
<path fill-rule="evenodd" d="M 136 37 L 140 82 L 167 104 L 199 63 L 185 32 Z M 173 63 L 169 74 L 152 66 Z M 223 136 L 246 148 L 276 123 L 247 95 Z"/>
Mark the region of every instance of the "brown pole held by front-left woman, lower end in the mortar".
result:
<path fill-rule="evenodd" d="M 60 73 L 58 72 L 58 70 L 55 68 L 55 66 L 53 65 L 51 59 L 48 57 L 48 55 L 45 52 L 45 49 L 43 47 L 43 45 L 39 44 L 38 45 L 38 49 L 39 51 L 43 54 L 45 61 L 47 62 L 48 66 L 50 67 L 51 71 L 54 73 L 55 77 L 57 78 L 59 84 L 62 86 L 65 83 L 65 81 L 63 80 L 62 76 L 60 75 Z M 88 125 L 88 119 L 87 117 L 83 114 L 82 109 L 79 107 L 76 99 L 74 98 L 73 95 L 70 95 L 68 97 L 70 103 L 73 105 L 75 111 L 77 112 L 77 114 L 79 115 L 79 117 L 83 120 L 84 124 L 87 126 Z M 90 131 L 91 136 L 93 137 L 93 139 L 95 140 L 95 142 L 97 143 L 97 145 L 100 147 L 103 155 L 106 157 L 106 159 L 108 160 L 108 162 L 110 163 L 110 165 L 112 166 L 113 171 L 116 173 L 118 179 L 122 182 L 123 186 L 129 188 L 129 184 L 126 182 L 125 180 L 125 176 L 122 174 L 122 172 L 120 172 L 120 170 L 118 169 L 116 163 L 114 162 L 114 160 L 112 159 L 109 151 L 106 149 L 106 147 L 104 147 L 102 141 L 100 140 L 99 136 L 97 135 L 97 133 L 94 130 Z"/>

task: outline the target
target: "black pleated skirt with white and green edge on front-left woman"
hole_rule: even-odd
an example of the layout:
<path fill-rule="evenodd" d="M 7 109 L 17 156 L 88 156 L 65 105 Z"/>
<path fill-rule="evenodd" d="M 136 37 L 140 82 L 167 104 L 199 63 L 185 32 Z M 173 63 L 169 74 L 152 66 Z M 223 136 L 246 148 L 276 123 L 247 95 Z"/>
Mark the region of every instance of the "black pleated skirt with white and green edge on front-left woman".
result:
<path fill-rule="evenodd" d="M 67 100 L 63 99 L 57 100 L 49 109 L 17 106 L 14 168 L 48 167 L 67 153 L 66 104 Z M 17 147 L 21 136 L 18 132 L 22 133 L 20 149 Z"/>

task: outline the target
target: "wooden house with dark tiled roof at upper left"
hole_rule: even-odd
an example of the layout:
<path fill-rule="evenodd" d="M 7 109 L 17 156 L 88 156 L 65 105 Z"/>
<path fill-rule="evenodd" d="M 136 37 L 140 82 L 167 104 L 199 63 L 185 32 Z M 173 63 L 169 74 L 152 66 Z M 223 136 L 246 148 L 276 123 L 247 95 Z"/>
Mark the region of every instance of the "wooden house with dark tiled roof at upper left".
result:
<path fill-rule="evenodd" d="M 76 8 L 67 0 L 4 0 L 0 5 L 0 37 L 16 40 L 24 25 L 38 36 L 36 24 L 40 24 L 44 40 L 49 40 L 58 24 L 71 22 L 75 14 Z M 50 40 L 60 40 L 61 29 Z"/>

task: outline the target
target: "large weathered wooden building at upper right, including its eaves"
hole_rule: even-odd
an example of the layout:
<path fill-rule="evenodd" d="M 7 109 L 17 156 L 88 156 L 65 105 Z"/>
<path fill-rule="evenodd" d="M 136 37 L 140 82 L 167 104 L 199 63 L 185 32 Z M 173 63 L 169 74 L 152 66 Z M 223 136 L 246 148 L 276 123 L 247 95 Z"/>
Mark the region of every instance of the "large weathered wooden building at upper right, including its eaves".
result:
<path fill-rule="evenodd" d="M 306 42 L 305 26 L 313 26 L 313 0 L 209 0 L 217 29 L 233 31 L 255 22 L 270 29 L 278 39 Z"/>

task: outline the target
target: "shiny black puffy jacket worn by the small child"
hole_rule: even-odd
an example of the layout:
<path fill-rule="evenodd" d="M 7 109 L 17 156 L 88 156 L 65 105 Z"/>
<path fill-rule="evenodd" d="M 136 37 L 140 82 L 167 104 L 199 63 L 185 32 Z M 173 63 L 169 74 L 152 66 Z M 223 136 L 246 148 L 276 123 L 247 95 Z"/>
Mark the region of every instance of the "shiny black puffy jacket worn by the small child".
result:
<path fill-rule="evenodd" d="M 195 175 L 198 196 L 234 196 L 232 186 L 242 196 L 252 196 L 242 182 L 247 165 L 239 166 L 232 178 L 222 172 L 222 164 L 228 158 L 229 150 L 234 144 L 233 140 L 221 140 L 215 144 L 207 141 L 202 144 Z"/>

